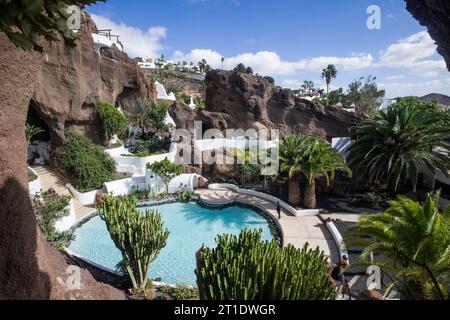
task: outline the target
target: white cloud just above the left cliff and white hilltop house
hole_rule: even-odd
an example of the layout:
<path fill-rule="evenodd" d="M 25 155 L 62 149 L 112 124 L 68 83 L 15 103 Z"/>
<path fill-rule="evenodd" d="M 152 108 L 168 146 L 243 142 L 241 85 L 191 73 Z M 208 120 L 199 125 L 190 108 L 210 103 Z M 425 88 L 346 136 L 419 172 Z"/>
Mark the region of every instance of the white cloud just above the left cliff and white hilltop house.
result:
<path fill-rule="evenodd" d="M 120 36 L 125 52 L 130 57 L 156 57 L 164 48 L 161 41 L 167 36 L 165 27 L 155 26 L 143 31 L 124 23 L 117 24 L 103 16 L 91 16 L 99 29 L 112 29 L 114 34 Z"/>

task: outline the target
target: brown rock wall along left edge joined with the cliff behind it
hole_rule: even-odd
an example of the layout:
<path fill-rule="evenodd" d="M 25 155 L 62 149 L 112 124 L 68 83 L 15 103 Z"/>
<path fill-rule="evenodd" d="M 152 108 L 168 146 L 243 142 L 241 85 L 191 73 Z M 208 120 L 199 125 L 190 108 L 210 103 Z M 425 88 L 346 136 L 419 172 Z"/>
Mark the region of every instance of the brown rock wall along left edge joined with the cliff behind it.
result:
<path fill-rule="evenodd" d="M 43 239 L 28 196 L 25 122 L 30 107 L 58 146 L 65 128 L 101 140 L 95 115 L 99 101 L 127 109 L 133 97 L 153 97 L 143 73 L 119 49 L 96 52 L 93 28 L 86 15 L 76 47 L 62 40 L 43 43 L 44 54 L 19 49 L 0 32 L 0 300 L 125 298 L 85 269 L 81 289 L 67 286 L 73 270 Z"/>

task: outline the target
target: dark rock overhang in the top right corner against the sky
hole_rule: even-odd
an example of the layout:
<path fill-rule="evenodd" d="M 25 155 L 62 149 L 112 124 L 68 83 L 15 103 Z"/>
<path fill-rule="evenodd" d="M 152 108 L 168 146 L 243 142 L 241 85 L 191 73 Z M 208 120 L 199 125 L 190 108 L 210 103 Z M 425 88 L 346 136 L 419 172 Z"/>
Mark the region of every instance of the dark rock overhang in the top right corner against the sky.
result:
<path fill-rule="evenodd" d="M 438 52 L 445 58 L 450 71 L 450 1 L 405 1 L 407 10 L 428 28 L 431 37 L 437 42 Z"/>

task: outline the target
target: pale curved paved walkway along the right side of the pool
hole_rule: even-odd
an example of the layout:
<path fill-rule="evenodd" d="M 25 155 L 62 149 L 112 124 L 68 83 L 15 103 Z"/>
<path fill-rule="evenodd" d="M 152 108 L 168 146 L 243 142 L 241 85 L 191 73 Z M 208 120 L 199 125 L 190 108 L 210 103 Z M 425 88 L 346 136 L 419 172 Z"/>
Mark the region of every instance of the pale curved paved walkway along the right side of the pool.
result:
<path fill-rule="evenodd" d="M 278 219 L 276 204 L 255 196 L 242 195 L 229 189 L 197 190 L 201 200 L 211 205 L 226 205 L 234 202 L 256 205 L 269 212 L 281 225 L 284 233 L 284 244 L 292 244 L 303 248 L 309 243 L 312 248 L 319 247 L 330 257 L 331 261 L 339 261 L 336 244 L 326 226 L 319 217 L 293 217 L 282 210 L 281 220 Z"/>

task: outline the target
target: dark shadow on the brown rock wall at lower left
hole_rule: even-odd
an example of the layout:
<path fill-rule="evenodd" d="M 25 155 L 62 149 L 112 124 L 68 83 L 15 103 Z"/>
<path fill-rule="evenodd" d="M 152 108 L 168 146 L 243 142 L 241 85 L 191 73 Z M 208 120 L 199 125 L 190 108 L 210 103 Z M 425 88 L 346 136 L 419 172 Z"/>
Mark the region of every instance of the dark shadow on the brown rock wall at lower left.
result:
<path fill-rule="evenodd" d="M 1 186 L 0 204 L 0 300 L 49 299 L 51 282 L 39 270 L 41 235 L 28 191 L 9 178 Z"/>

